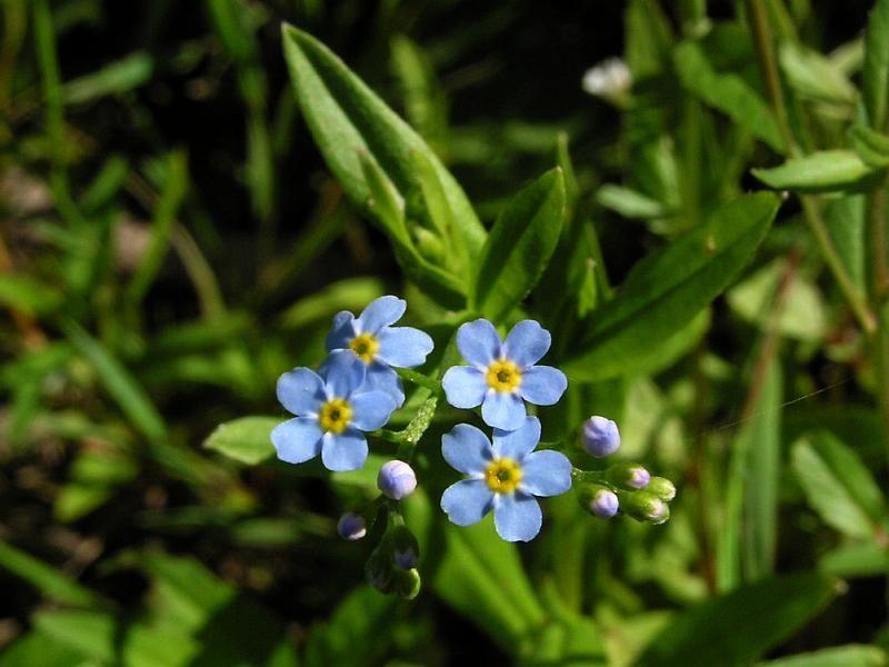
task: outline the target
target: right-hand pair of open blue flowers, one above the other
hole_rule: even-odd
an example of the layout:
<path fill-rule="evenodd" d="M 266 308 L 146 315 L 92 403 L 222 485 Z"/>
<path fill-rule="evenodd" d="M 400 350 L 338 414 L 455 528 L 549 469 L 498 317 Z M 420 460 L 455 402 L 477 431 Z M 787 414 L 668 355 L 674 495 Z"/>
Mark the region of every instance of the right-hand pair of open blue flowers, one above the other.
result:
<path fill-rule="evenodd" d="M 549 331 L 533 320 L 512 327 L 506 341 L 485 319 L 457 331 L 457 348 L 470 366 L 444 374 L 448 402 L 456 408 L 481 406 L 481 418 L 493 428 L 492 441 L 468 424 L 458 424 L 441 439 L 444 460 L 468 476 L 441 497 L 441 509 L 458 526 L 480 521 L 493 510 L 500 537 L 528 541 L 542 524 L 535 496 L 557 496 L 571 488 L 571 462 L 563 454 L 533 451 L 540 421 L 528 417 L 525 407 L 525 401 L 551 406 L 568 388 L 562 371 L 536 366 L 549 347 Z"/>

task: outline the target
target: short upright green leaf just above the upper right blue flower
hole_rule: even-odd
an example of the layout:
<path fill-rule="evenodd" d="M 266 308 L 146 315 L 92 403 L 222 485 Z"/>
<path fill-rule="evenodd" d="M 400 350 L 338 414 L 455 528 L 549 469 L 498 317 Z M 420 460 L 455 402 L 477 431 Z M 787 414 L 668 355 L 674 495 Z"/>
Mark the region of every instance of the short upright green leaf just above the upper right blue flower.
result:
<path fill-rule="evenodd" d="M 537 285 L 565 221 L 565 179 L 552 169 L 516 195 L 481 251 L 472 307 L 501 322 Z"/>

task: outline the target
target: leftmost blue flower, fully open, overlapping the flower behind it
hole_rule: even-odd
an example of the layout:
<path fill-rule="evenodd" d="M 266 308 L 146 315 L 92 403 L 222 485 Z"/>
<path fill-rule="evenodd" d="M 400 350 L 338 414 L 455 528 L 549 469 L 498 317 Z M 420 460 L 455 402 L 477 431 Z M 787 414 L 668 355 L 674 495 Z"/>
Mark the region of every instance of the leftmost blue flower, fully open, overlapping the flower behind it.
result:
<path fill-rule="evenodd" d="M 296 419 L 271 431 L 278 458 L 301 464 L 321 455 L 329 470 L 357 470 L 368 457 L 361 431 L 380 428 L 396 409 L 384 391 L 368 390 L 367 368 L 354 355 L 337 351 L 316 374 L 294 368 L 278 379 L 278 400 Z"/>

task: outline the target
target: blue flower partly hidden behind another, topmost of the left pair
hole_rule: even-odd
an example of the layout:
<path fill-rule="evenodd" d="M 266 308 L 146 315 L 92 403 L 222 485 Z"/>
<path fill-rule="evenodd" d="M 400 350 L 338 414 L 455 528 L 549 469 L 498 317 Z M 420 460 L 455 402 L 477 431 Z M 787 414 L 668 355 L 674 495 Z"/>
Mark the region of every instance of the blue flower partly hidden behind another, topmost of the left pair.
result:
<path fill-rule="evenodd" d="M 434 347 L 419 329 L 391 326 L 401 319 L 407 307 L 403 299 L 388 296 L 368 303 L 358 317 L 342 310 L 333 317 L 333 328 L 327 337 L 328 350 L 352 350 L 367 366 L 368 388 L 391 395 L 398 407 L 404 402 L 404 390 L 391 367 L 421 366 Z"/>

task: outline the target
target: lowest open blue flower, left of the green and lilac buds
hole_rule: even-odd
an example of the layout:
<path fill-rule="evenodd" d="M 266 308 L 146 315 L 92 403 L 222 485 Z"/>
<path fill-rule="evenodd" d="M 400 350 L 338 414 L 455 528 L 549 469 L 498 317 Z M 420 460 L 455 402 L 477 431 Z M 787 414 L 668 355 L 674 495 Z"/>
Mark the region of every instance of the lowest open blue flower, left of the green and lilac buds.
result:
<path fill-rule="evenodd" d="M 442 436 L 444 460 L 468 475 L 441 496 L 448 518 L 469 526 L 493 509 L 500 537 L 508 541 L 533 539 L 543 520 L 535 496 L 558 496 L 571 488 L 571 462 L 558 451 L 533 451 L 539 440 L 537 417 L 525 417 L 512 431 L 493 429 L 493 445 L 468 424 L 458 424 Z"/>

